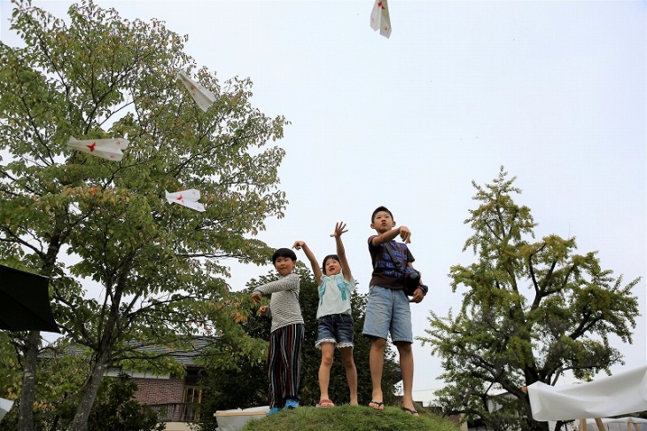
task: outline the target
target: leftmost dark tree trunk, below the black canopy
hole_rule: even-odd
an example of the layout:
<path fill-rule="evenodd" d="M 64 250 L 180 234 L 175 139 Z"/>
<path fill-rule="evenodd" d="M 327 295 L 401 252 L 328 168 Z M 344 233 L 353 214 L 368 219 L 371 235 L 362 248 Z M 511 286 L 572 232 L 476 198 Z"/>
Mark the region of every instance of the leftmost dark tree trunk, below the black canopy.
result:
<path fill-rule="evenodd" d="M 36 359 L 41 345 L 41 333 L 30 331 L 25 341 L 25 364 L 20 389 L 20 406 L 18 418 L 19 431 L 34 431 L 34 402 L 36 385 Z"/>

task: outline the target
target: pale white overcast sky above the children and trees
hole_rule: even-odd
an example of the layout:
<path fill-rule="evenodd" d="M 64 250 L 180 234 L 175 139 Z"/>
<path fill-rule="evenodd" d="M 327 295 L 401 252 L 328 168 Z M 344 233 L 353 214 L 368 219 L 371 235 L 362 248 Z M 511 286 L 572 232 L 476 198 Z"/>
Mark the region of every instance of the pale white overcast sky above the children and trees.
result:
<path fill-rule="evenodd" d="M 34 1 L 64 18 L 69 1 Z M 280 168 L 290 204 L 259 238 L 334 252 L 345 221 L 349 263 L 368 292 L 366 240 L 379 205 L 413 232 L 416 267 L 431 287 L 414 305 L 414 335 L 429 310 L 445 316 L 461 294 L 447 276 L 468 264 L 464 219 L 472 180 L 503 165 L 532 209 L 537 239 L 574 235 L 604 269 L 644 277 L 646 201 L 645 1 L 391 0 L 390 39 L 369 27 L 362 1 L 97 1 L 130 20 L 164 20 L 221 81 L 251 77 L 253 106 L 292 121 Z M 15 41 L 0 0 L 0 37 Z M 302 253 L 300 259 L 305 260 Z M 232 286 L 271 270 L 233 265 Z M 635 287 L 645 315 L 644 280 Z M 647 362 L 645 317 L 625 368 Z M 314 342 L 314 341 L 313 341 Z M 432 399 L 440 360 L 414 346 L 414 398 Z M 620 371 L 622 367 L 614 368 Z"/>

